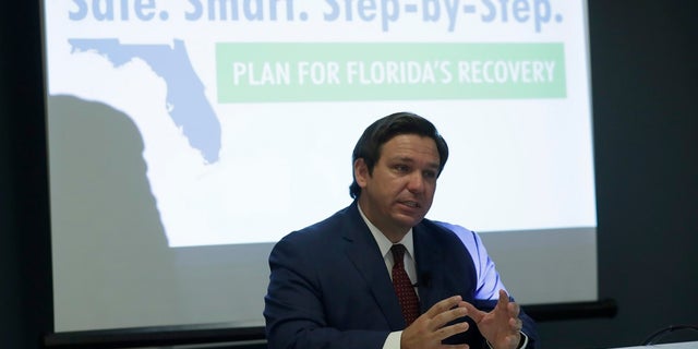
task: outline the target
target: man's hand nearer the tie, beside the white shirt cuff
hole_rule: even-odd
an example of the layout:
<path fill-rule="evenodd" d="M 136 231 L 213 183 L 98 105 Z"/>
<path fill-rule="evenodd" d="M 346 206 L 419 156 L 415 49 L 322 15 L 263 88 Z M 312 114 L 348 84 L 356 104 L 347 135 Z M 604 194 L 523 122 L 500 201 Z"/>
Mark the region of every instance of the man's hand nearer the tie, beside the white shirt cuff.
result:
<path fill-rule="evenodd" d="M 419 316 L 410 326 L 402 330 L 401 349 L 468 349 L 468 345 L 442 345 L 442 340 L 468 330 L 468 323 L 462 322 L 449 326 L 447 323 L 468 315 L 470 305 L 460 296 L 454 296 L 440 301 Z M 474 306 L 470 305 L 471 309 Z"/>

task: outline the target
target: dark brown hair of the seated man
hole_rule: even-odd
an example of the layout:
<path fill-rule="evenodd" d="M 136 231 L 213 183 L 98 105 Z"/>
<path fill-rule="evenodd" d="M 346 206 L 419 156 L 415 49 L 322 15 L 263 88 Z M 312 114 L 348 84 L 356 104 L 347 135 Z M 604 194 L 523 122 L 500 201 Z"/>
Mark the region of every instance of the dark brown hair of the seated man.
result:
<path fill-rule="evenodd" d="M 436 176 L 440 176 L 448 159 L 448 145 L 446 145 L 446 141 L 438 134 L 434 124 L 429 120 L 406 111 L 392 113 L 378 119 L 363 131 L 351 155 L 352 169 L 353 163 L 356 163 L 357 159 L 363 158 L 369 169 L 369 174 L 373 174 L 373 167 L 375 163 L 378 161 L 378 158 L 381 158 L 383 144 L 400 134 L 417 134 L 434 140 L 440 160 L 438 173 Z M 359 186 L 357 178 L 353 176 L 353 182 L 349 185 L 349 195 L 357 198 L 359 194 L 361 194 L 361 186 Z"/>

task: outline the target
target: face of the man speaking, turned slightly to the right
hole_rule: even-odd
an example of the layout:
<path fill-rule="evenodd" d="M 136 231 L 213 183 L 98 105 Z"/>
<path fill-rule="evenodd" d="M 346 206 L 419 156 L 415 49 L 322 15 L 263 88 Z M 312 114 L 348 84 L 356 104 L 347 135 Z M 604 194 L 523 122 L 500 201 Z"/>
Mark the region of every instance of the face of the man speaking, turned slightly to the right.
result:
<path fill-rule="evenodd" d="M 373 174 L 354 161 L 359 205 L 388 239 L 397 242 L 429 212 L 436 190 L 438 151 L 430 137 L 401 134 L 383 144 Z"/>

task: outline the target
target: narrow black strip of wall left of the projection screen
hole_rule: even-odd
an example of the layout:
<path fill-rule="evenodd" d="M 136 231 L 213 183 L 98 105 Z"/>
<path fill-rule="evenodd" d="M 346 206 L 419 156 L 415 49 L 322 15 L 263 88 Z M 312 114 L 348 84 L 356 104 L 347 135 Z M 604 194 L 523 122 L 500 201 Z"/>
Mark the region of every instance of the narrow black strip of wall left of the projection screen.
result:
<path fill-rule="evenodd" d="M 51 328 L 50 242 L 38 1 L 0 11 L 0 348 Z"/>

